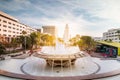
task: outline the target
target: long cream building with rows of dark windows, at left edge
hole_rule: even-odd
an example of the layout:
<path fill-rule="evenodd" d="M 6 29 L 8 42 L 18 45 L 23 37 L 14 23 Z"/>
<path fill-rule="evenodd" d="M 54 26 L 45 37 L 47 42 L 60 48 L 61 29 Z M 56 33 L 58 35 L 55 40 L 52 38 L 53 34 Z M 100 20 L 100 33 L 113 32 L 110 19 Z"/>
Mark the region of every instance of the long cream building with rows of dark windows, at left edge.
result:
<path fill-rule="evenodd" d="M 22 31 L 26 31 L 27 34 L 30 34 L 36 31 L 36 29 L 22 24 L 14 17 L 0 11 L 0 36 L 10 41 L 11 38 L 22 35 Z"/>

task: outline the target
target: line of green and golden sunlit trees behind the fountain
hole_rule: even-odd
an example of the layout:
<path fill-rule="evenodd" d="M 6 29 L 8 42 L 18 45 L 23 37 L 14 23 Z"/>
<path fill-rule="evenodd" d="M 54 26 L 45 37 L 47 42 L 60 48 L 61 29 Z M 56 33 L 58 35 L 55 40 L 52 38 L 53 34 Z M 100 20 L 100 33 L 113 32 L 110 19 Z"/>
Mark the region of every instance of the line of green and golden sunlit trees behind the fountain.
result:
<path fill-rule="evenodd" d="M 22 31 L 22 35 L 12 38 L 10 42 L 0 43 L 0 53 L 6 53 L 6 48 L 13 48 L 14 51 L 18 47 L 21 50 L 27 50 L 36 49 L 40 46 L 55 46 L 55 40 L 55 36 L 49 34 L 33 32 L 28 35 L 26 31 Z M 58 38 L 58 41 L 64 42 L 62 38 Z M 69 40 L 69 43 L 70 46 L 78 46 L 80 50 L 94 50 L 96 47 L 96 42 L 90 36 L 76 35 Z"/>

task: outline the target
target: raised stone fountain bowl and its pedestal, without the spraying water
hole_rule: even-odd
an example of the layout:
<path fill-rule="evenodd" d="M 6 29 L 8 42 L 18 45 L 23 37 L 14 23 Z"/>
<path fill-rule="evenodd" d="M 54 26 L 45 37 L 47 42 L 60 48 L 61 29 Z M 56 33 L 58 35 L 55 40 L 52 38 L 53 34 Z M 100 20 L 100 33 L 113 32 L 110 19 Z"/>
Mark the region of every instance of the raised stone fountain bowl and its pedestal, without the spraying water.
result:
<path fill-rule="evenodd" d="M 74 54 L 46 54 L 44 52 L 36 53 L 34 56 L 43 58 L 46 60 L 49 66 L 62 66 L 62 67 L 70 67 L 71 65 L 75 64 L 77 58 L 84 57 L 85 55 L 81 54 L 80 52 Z"/>

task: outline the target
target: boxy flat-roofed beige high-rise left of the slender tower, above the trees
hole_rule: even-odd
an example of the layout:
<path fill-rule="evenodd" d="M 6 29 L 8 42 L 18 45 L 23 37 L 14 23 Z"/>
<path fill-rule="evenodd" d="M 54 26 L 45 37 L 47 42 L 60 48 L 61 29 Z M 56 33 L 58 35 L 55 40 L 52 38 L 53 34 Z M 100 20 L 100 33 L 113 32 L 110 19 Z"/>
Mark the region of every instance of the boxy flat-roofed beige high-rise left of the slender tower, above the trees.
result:
<path fill-rule="evenodd" d="M 43 33 L 50 34 L 52 36 L 56 36 L 56 27 L 55 26 L 42 26 Z"/>

